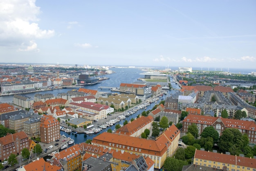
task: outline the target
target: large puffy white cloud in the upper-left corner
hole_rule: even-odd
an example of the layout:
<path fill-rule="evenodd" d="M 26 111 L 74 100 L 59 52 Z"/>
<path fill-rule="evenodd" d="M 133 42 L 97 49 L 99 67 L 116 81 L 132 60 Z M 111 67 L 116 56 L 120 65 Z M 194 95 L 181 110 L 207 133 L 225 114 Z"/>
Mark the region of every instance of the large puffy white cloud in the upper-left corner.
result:
<path fill-rule="evenodd" d="M 43 30 L 38 26 L 39 13 L 35 0 L 0 1 L 0 46 L 17 47 L 18 51 L 23 51 L 23 44 L 28 44 L 27 47 L 34 49 L 37 47 L 35 39 L 54 36 L 54 30 Z"/>

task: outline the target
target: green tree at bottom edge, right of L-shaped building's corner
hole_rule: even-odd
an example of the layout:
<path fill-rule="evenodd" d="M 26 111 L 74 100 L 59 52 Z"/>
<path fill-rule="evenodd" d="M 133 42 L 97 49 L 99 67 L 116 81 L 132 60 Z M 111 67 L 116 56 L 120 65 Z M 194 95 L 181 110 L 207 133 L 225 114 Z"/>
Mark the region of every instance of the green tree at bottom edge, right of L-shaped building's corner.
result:
<path fill-rule="evenodd" d="M 189 163 L 183 160 L 178 160 L 175 158 L 167 157 L 164 161 L 164 170 L 166 171 L 181 171 L 182 167 L 188 165 Z"/>

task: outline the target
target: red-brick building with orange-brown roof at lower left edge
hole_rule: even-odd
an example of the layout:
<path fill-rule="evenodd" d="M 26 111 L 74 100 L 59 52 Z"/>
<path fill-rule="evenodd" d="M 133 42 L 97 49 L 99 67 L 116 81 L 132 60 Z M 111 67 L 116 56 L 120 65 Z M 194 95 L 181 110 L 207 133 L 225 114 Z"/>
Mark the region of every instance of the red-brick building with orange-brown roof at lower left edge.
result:
<path fill-rule="evenodd" d="M 22 149 L 29 149 L 29 138 L 25 132 L 7 133 L 0 138 L 0 162 L 7 160 L 10 154 L 20 155 Z"/>

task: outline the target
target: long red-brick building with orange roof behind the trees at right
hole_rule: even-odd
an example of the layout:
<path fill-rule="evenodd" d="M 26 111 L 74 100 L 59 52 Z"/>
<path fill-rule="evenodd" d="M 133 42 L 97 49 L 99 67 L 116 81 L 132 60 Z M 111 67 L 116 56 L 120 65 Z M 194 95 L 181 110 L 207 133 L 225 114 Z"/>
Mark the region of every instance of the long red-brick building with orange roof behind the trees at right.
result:
<path fill-rule="evenodd" d="M 247 134 L 249 142 L 256 143 L 256 123 L 252 121 L 190 114 L 183 120 L 182 131 L 187 133 L 189 125 L 193 123 L 196 124 L 199 134 L 206 127 L 213 127 L 219 135 L 227 128 L 235 128 L 242 134 Z"/>

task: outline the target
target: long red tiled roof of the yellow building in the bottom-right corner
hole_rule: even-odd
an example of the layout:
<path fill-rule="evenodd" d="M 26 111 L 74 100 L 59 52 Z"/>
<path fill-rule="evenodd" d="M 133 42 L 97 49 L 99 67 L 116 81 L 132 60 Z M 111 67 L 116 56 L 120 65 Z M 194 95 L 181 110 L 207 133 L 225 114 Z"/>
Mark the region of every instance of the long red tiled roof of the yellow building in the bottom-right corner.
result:
<path fill-rule="evenodd" d="M 227 163 L 227 164 L 234 164 L 234 165 L 250 167 L 250 168 L 256 168 L 256 159 L 240 157 L 236 155 L 228 155 L 228 154 L 222 154 L 222 153 L 213 153 L 210 151 L 196 150 L 194 158 Z"/>

